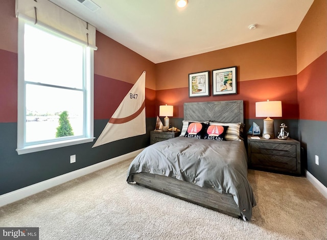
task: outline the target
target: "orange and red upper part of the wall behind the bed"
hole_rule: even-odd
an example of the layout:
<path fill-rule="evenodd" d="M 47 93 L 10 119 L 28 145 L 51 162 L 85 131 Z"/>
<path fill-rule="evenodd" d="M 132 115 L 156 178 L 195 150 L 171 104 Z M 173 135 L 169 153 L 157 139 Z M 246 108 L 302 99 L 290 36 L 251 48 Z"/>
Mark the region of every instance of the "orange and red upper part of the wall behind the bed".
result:
<path fill-rule="evenodd" d="M 189 98 L 190 73 L 234 65 L 238 94 Z M 282 101 L 283 119 L 299 116 L 296 33 L 159 63 L 156 79 L 156 114 L 161 104 L 174 105 L 174 117 L 182 118 L 184 102 L 244 100 L 244 117 L 248 119 L 255 118 L 255 102 L 269 99 Z"/>

